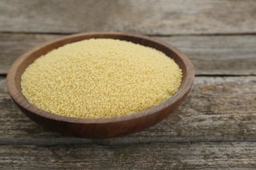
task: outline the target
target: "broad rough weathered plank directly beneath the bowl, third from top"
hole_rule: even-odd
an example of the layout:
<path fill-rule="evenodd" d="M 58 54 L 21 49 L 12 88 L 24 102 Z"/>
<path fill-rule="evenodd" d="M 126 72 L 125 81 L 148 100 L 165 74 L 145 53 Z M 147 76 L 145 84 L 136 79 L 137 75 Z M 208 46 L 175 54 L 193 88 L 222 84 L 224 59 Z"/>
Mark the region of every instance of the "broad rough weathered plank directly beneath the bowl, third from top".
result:
<path fill-rule="evenodd" d="M 12 103 L 0 80 L 0 144 L 256 142 L 256 76 L 196 77 L 179 109 L 156 126 L 116 139 L 64 137 L 35 124 Z"/>

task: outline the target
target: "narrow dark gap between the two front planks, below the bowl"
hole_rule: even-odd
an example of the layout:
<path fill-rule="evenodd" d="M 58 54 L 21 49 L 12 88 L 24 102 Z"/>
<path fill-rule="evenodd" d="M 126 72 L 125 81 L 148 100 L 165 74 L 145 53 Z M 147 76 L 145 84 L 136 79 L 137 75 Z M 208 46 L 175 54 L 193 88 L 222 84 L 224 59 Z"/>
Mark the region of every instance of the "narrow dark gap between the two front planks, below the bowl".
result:
<path fill-rule="evenodd" d="M 96 144 L 99 146 L 126 146 L 130 144 L 152 144 L 152 143 L 255 143 L 256 139 L 157 139 L 152 137 L 150 139 L 139 140 L 137 137 L 129 139 L 129 142 L 125 138 L 113 138 L 113 139 L 82 139 L 76 137 L 60 137 L 60 138 L 37 138 L 37 139 L 26 139 L 26 138 L 10 138 L 0 139 L 0 146 L 8 145 L 33 145 L 33 146 L 58 146 L 58 145 L 87 145 Z"/>

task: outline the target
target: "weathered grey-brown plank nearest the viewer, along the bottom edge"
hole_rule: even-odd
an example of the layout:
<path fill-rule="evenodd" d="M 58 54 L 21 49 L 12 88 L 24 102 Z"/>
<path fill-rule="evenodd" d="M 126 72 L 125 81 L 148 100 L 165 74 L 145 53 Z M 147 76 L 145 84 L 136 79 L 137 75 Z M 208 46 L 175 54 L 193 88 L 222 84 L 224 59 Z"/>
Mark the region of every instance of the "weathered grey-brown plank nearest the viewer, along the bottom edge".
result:
<path fill-rule="evenodd" d="M 256 143 L 0 146 L 3 169 L 255 169 Z"/>

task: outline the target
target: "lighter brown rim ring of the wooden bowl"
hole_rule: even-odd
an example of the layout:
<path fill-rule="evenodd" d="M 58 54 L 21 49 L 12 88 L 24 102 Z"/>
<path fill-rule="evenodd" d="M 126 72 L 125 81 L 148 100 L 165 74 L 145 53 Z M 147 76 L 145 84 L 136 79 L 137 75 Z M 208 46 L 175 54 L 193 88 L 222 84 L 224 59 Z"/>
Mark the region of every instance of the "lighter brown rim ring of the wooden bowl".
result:
<path fill-rule="evenodd" d="M 30 103 L 26 97 L 19 93 L 17 88 L 16 88 L 16 75 L 18 74 L 19 76 L 22 75 L 22 73 L 17 73 L 18 67 L 22 63 L 22 61 L 26 60 L 33 52 L 36 52 L 37 50 L 43 48 L 44 46 L 54 44 L 56 42 L 64 41 L 66 39 L 73 39 L 75 37 L 83 37 L 83 36 L 95 36 L 95 35 L 117 35 L 117 36 L 127 36 L 127 37 L 135 37 L 139 39 L 144 39 L 146 41 L 152 41 L 157 44 L 161 44 L 161 46 L 165 46 L 165 48 L 169 48 L 173 53 L 177 54 L 179 58 L 183 61 L 185 68 L 186 68 L 186 77 L 182 78 L 182 84 L 179 87 L 179 90 L 173 95 L 172 97 L 169 97 L 169 99 L 163 101 L 159 105 L 156 105 L 155 107 L 152 107 L 147 110 L 142 110 L 140 112 L 135 112 L 132 114 L 127 114 L 124 116 L 118 116 L 118 117 L 110 117 L 110 118 L 74 118 L 74 117 L 68 117 L 68 116 L 62 116 L 58 114 L 53 114 L 50 112 L 47 112 L 45 110 L 41 110 Z M 93 38 L 93 37 L 92 37 Z M 106 37 L 105 37 L 106 38 Z M 75 42 L 75 41 L 74 41 Z M 67 43 L 65 43 L 67 44 Z M 114 123 L 114 122 L 123 122 L 127 120 L 132 120 L 135 118 L 142 118 L 144 116 L 148 116 L 150 114 L 157 114 L 158 111 L 166 109 L 170 105 L 173 105 L 179 99 L 181 99 L 184 95 L 186 95 L 187 92 L 189 92 L 190 88 L 192 87 L 192 84 L 194 82 L 194 65 L 190 61 L 190 59 L 172 46 L 171 44 L 167 44 L 167 42 L 163 42 L 157 39 L 154 39 L 152 37 L 146 37 L 144 35 L 137 35 L 133 33 L 122 33 L 122 32 L 87 32 L 87 33 L 76 33 L 64 37 L 60 37 L 57 39 L 53 39 L 51 41 L 44 42 L 42 44 L 39 44 L 24 54 L 17 58 L 14 63 L 12 63 L 8 73 L 7 73 L 7 90 L 9 94 L 11 95 L 11 98 L 18 104 L 20 107 L 23 107 L 24 109 L 32 112 L 33 114 L 37 114 L 38 116 L 42 116 L 45 118 L 49 118 L 52 120 L 56 121 L 61 121 L 61 122 L 70 122 L 70 123 L 75 123 L 75 124 L 107 124 L 107 123 Z M 184 75 L 183 75 L 184 76 Z"/>

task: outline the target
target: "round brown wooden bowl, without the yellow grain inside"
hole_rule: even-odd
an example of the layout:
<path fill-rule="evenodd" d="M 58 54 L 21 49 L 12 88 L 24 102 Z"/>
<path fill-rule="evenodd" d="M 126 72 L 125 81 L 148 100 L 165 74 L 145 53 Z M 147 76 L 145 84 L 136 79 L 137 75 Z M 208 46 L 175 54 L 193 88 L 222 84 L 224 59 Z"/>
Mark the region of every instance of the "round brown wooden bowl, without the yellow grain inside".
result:
<path fill-rule="evenodd" d="M 160 105 L 152 107 L 148 110 L 143 110 L 134 114 L 120 116 L 116 118 L 70 118 L 46 112 L 38 109 L 28 102 L 22 94 L 20 87 L 21 76 L 26 67 L 43 54 L 47 54 L 54 48 L 63 46 L 71 42 L 81 41 L 91 38 L 110 38 L 134 43 L 142 44 L 156 48 L 165 53 L 182 69 L 183 78 L 181 86 L 173 97 L 167 99 Z M 127 33 L 103 32 L 103 33 L 79 33 L 66 36 L 54 41 L 46 42 L 29 50 L 12 64 L 7 75 L 7 88 L 14 101 L 24 114 L 41 126 L 58 131 L 66 135 L 85 138 L 111 138 L 128 135 L 141 131 L 146 127 L 153 126 L 166 118 L 181 104 L 188 94 L 194 81 L 194 67 L 190 61 L 177 48 L 158 40 L 144 37 L 141 35 L 132 35 Z"/>

